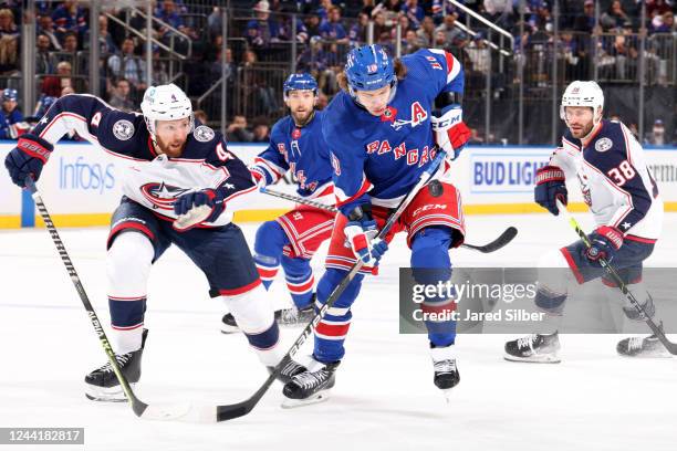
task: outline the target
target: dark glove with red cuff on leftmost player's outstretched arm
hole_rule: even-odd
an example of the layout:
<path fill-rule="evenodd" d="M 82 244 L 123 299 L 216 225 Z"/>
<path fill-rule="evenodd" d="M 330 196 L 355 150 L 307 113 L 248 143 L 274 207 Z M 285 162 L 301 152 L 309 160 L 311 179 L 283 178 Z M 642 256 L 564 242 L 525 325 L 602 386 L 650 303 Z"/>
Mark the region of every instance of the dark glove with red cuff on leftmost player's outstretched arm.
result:
<path fill-rule="evenodd" d="M 25 187 L 25 178 L 29 175 L 32 175 L 33 180 L 37 181 L 52 150 L 54 150 L 54 146 L 39 136 L 22 136 L 17 143 L 17 147 L 4 158 L 4 167 L 12 181 L 21 188 Z"/>

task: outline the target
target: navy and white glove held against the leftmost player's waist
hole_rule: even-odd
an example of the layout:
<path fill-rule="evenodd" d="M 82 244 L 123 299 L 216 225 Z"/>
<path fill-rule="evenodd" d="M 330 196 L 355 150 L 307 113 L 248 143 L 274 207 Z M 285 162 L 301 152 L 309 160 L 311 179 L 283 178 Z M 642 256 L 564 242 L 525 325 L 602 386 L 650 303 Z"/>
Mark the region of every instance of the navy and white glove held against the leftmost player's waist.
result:
<path fill-rule="evenodd" d="M 178 216 L 174 228 L 180 232 L 204 222 L 213 222 L 226 210 L 225 191 L 221 189 L 202 189 L 187 192 L 174 202 L 174 212 Z"/>

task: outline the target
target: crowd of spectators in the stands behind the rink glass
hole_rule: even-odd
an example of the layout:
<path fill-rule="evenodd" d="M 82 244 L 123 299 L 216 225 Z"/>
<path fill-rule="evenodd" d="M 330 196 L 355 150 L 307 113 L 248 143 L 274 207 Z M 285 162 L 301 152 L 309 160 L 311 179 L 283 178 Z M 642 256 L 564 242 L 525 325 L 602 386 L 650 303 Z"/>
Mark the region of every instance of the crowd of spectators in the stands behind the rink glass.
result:
<path fill-rule="evenodd" d="M 20 88 L 22 3 L 0 0 L 0 88 Z M 264 141 L 271 119 L 283 113 L 281 93 L 275 86 L 281 85 L 280 80 L 287 75 L 281 67 L 290 66 L 289 43 L 298 44 L 298 70 L 310 71 L 316 76 L 322 106 L 338 90 L 336 75 L 345 53 L 351 46 L 366 42 L 369 29 L 374 41 L 392 52 L 397 36 L 405 54 L 429 46 L 449 49 L 462 60 L 469 80 L 489 74 L 497 92 L 510 82 L 491 67 L 488 30 L 477 22 L 472 24 L 475 34 L 456 27 L 457 22 L 466 23 L 466 13 L 444 0 L 231 0 L 229 43 L 222 61 L 220 7 L 225 3 L 204 0 L 155 2 L 154 17 L 158 21 L 153 29 L 156 40 L 152 46 L 153 80 L 148 80 L 146 67 L 147 46 L 121 24 L 128 23 L 145 33 L 145 19 L 127 9 L 102 3 L 98 17 L 101 91 L 93 94 L 117 108 L 133 111 L 137 109 L 140 95 L 149 84 L 175 81 L 174 75 L 184 72 L 186 77 L 178 78 L 179 84 L 197 98 L 215 86 L 225 67 L 231 97 L 230 138 Z M 528 52 L 542 55 L 548 53 L 543 49 L 551 49 L 550 53 L 564 64 L 564 76 L 571 80 L 590 77 L 593 35 L 600 38 L 598 75 L 629 80 L 637 67 L 640 33 L 646 32 L 649 38 L 677 33 L 674 20 L 677 2 L 670 0 L 646 0 L 645 23 L 640 23 L 643 2 L 636 0 L 598 0 L 598 21 L 593 0 L 560 0 L 556 39 L 552 0 L 465 0 L 461 3 L 514 36 L 511 50 L 518 54 L 517 61 L 529 64 L 531 53 Z M 69 93 L 90 92 L 90 12 L 86 7 L 86 2 L 77 0 L 35 0 L 34 56 L 37 95 L 40 97 L 37 109 L 44 99 L 49 103 Z M 656 40 L 650 45 L 654 46 L 647 49 L 649 76 L 656 82 L 665 81 L 665 61 L 660 55 L 675 52 L 675 39 Z M 660 49 L 660 45 L 671 48 Z M 178 54 L 188 55 L 188 59 L 176 63 L 178 69 L 170 71 L 171 61 L 177 62 Z M 541 65 L 546 66 L 545 63 Z M 535 77 L 539 76 L 537 70 Z M 246 106 L 254 107 L 244 108 L 240 97 L 244 98 Z M 11 116 L 6 108 L 11 101 L 4 98 L 3 94 L 3 125 Z M 205 122 L 208 119 L 205 117 Z M 647 139 L 660 135 L 656 129 L 650 134 Z M 476 137 L 483 139 L 477 133 Z"/>

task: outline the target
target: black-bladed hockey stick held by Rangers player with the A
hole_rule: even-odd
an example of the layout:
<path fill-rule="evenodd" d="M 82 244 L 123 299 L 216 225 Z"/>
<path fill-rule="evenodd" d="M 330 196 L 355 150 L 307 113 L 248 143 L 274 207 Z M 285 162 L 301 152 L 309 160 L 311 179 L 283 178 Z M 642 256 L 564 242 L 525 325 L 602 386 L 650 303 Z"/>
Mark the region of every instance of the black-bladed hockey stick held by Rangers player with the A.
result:
<path fill-rule="evenodd" d="M 435 157 L 435 159 L 433 160 L 433 164 L 428 167 L 428 169 L 426 169 L 425 172 L 420 175 L 420 178 L 418 179 L 418 182 L 416 183 L 416 186 L 412 188 L 409 193 L 399 202 L 399 206 L 397 206 L 395 211 L 390 213 L 390 216 L 388 217 L 388 220 L 383 226 L 383 228 L 378 231 L 378 234 L 376 235 L 376 238 L 379 238 L 379 239 L 385 238 L 385 235 L 393 228 L 393 226 L 395 224 L 399 216 L 403 213 L 403 211 L 409 206 L 414 197 L 430 180 L 433 175 L 437 171 L 439 165 L 445 158 L 445 155 L 446 153 L 440 149 L 437 156 Z M 217 421 L 227 421 L 233 418 L 242 417 L 249 413 L 257 406 L 259 400 L 263 397 L 263 395 L 265 395 L 265 391 L 268 391 L 268 388 L 270 387 L 270 385 L 273 382 L 273 380 L 275 380 L 280 371 L 282 371 L 282 368 L 284 368 L 284 366 L 289 363 L 289 360 L 296 354 L 299 348 L 303 345 L 305 339 L 313 333 L 313 329 L 315 328 L 317 323 L 320 323 L 322 317 L 325 315 L 326 311 L 330 310 L 332 305 L 334 305 L 334 303 L 338 300 L 338 296 L 343 294 L 347 285 L 355 277 L 357 272 L 360 272 L 363 265 L 364 265 L 364 262 L 362 260 L 357 260 L 357 262 L 353 265 L 351 271 L 348 271 L 346 276 L 343 277 L 341 283 L 334 289 L 334 291 L 329 296 L 324 305 L 322 305 L 322 308 L 320 308 L 320 311 L 315 313 L 315 316 L 313 317 L 313 319 L 305 326 L 305 328 L 303 329 L 299 338 L 296 338 L 296 340 L 291 346 L 289 352 L 284 355 L 284 357 L 282 357 L 282 360 L 280 360 L 278 366 L 275 366 L 275 368 L 271 371 L 268 379 L 265 379 L 261 388 L 259 388 L 256 394 L 253 394 L 249 399 L 242 402 L 217 407 Z"/>

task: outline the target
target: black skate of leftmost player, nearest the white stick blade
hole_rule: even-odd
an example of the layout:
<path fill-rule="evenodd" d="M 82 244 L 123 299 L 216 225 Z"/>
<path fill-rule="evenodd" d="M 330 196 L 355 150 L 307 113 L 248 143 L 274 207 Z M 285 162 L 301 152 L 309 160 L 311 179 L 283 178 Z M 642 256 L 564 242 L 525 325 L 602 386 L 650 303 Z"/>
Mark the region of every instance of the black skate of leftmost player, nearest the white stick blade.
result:
<path fill-rule="evenodd" d="M 147 336 L 148 331 L 144 329 L 140 349 L 115 355 L 117 365 L 132 388 L 140 379 L 140 361 Z M 110 361 L 85 376 L 85 396 L 93 401 L 125 402 L 127 400 Z"/>

